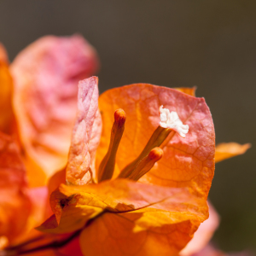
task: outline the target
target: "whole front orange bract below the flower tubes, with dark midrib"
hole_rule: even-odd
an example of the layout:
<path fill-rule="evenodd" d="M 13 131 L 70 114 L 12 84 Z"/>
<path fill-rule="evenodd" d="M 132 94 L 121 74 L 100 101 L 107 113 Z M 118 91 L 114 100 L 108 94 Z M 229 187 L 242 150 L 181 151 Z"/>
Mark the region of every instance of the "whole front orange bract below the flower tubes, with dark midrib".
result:
<path fill-rule="evenodd" d="M 38 230 L 73 232 L 83 229 L 91 218 L 97 217 L 85 227 L 80 237 L 84 255 L 97 255 L 98 250 L 105 252 L 99 255 L 114 255 L 116 250 L 120 253 L 130 243 L 135 247 L 127 255 L 134 255 L 136 250 L 145 253 L 152 249 L 152 241 L 162 248 L 160 253 L 177 253 L 208 217 L 206 201 L 190 195 L 187 189 L 170 189 L 125 179 L 86 186 L 62 184 L 51 195 L 51 206 L 55 216 Z M 122 220 L 125 221 L 124 226 L 119 223 Z M 108 225 L 107 233 L 104 223 Z M 107 238 L 111 236 L 110 233 L 116 233 L 119 241 Z M 101 247 L 98 242 L 101 242 Z M 112 247 L 112 250 L 108 250 L 108 247 Z M 154 253 L 152 251 L 148 255 Z"/>

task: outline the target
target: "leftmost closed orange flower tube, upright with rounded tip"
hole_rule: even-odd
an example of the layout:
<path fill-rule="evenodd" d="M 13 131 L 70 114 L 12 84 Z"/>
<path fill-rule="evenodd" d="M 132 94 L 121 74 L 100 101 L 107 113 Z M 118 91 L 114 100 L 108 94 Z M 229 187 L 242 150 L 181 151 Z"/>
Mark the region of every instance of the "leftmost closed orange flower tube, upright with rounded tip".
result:
<path fill-rule="evenodd" d="M 98 182 L 110 179 L 113 176 L 113 170 L 115 165 L 115 157 L 119 148 L 120 140 L 125 131 L 125 111 L 121 108 L 114 112 L 114 122 L 111 130 L 110 143 L 108 152 L 102 160 L 98 170 Z"/>

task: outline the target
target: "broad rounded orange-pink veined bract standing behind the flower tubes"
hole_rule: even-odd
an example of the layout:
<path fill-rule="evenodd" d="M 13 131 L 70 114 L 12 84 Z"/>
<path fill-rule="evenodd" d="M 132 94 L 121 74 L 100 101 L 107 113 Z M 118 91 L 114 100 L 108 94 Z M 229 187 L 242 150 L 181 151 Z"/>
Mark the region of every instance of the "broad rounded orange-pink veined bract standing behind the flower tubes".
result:
<path fill-rule="evenodd" d="M 108 150 L 113 112 L 126 113 L 125 132 L 119 144 L 113 177 L 136 159 L 160 122 L 163 105 L 176 111 L 183 124 L 189 125 L 186 138 L 171 132 L 161 145 L 162 159 L 143 176 L 143 183 L 170 187 L 188 187 L 191 193 L 207 198 L 214 172 L 215 133 L 212 115 L 203 98 L 151 84 L 131 84 L 108 90 L 99 98 L 103 131 L 96 154 L 99 166 Z"/>

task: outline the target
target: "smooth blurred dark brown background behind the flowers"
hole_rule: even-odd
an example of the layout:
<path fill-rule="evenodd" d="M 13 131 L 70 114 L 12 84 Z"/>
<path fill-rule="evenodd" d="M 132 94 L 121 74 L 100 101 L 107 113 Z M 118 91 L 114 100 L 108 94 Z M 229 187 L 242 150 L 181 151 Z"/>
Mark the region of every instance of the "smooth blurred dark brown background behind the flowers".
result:
<path fill-rule="evenodd" d="M 80 33 L 102 63 L 100 90 L 150 83 L 197 86 L 216 142 L 252 143 L 216 166 L 210 199 L 221 216 L 213 242 L 256 251 L 256 1 L 2 0 L 0 41 L 12 61 L 34 40 Z"/>

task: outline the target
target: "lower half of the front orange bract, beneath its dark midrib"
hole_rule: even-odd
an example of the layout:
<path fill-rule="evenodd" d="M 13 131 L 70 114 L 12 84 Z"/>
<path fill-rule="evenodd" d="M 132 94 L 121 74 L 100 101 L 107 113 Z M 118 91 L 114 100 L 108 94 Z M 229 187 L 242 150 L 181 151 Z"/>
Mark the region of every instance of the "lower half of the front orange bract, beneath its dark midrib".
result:
<path fill-rule="evenodd" d="M 80 245 L 88 256 L 177 255 L 205 218 L 206 203 L 181 193 L 137 211 L 104 213 L 82 231 Z"/>

